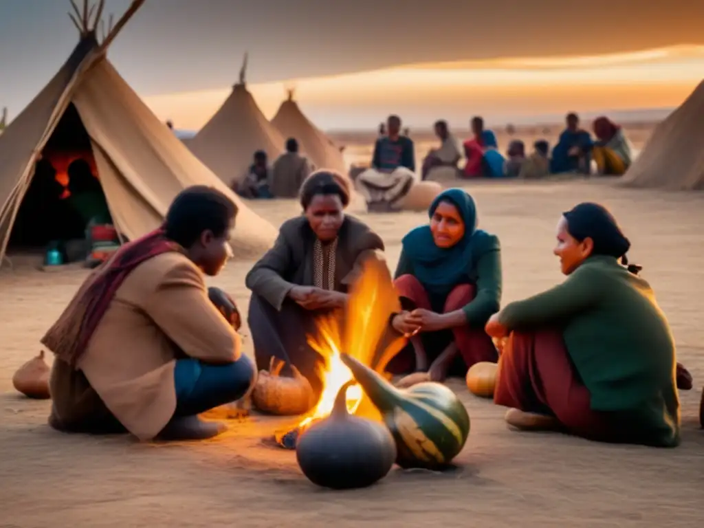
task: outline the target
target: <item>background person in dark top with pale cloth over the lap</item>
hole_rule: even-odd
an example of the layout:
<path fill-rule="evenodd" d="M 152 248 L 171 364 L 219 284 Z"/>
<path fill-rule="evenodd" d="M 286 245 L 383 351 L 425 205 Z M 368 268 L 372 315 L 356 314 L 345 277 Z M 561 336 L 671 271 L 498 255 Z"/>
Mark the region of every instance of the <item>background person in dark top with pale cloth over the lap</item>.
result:
<path fill-rule="evenodd" d="M 401 135 L 401 118 L 390 115 L 386 120 L 386 136 L 379 137 L 374 147 L 372 165 L 356 180 L 357 188 L 375 211 L 397 210 L 415 179 L 413 141 Z"/>

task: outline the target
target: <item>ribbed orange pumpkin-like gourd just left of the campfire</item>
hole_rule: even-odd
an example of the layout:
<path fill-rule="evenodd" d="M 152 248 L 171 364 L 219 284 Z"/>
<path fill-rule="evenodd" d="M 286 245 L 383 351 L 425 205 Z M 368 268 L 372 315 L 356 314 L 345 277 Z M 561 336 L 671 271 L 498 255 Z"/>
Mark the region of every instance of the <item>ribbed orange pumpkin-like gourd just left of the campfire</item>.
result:
<path fill-rule="evenodd" d="M 260 370 L 252 391 L 252 403 L 263 413 L 302 415 L 315 405 L 315 392 L 308 379 L 291 365 L 293 377 L 279 376 L 285 363 L 271 358 L 269 370 Z"/>

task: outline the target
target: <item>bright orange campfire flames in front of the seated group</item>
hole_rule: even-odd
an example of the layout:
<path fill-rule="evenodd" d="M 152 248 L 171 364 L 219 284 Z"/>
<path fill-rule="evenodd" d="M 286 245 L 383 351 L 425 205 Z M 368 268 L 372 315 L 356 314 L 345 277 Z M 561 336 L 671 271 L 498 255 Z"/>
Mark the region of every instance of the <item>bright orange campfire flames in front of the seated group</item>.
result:
<path fill-rule="evenodd" d="M 322 392 L 313 410 L 295 427 L 275 433 L 280 446 L 294 449 L 298 436 L 306 427 L 330 414 L 338 391 L 353 379 L 352 372 L 342 363 L 341 352 L 348 353 L 377 372 L 383 372 L 389 360 L 403 346 L 403 339 L 384 343 L 382 346 L 386 346 L 383 348 L 379 346 L 389 315 L 399 308 L 398 295 L 386 263 L 376 258 L 367 260 L 351 287 L 344 316 L 331 314 L 318 318 L 317 335 L 308 336 L 308 344 L 323 358 L 318 372 L 322 379 Z M 379 418 L 379 413 L 358 385 L 351 386 L 347 391 L 347 409 L 351 414 Z"/>

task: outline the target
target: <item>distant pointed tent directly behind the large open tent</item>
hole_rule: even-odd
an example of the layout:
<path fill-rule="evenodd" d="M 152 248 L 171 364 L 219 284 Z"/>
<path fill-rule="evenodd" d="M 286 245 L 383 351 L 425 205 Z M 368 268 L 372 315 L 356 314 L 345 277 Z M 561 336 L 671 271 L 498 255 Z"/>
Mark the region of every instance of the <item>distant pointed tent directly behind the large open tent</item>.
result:
<path fill-rule="evenodd" d="M 265 151 L 270 162 L 284 151 L 285 139 L 265 118 L 246 88 L 246 68 L 247 54 L 232 94 L 187 142 L 191 152 L 227 185 L 244 177 L 256 151 Z"/>

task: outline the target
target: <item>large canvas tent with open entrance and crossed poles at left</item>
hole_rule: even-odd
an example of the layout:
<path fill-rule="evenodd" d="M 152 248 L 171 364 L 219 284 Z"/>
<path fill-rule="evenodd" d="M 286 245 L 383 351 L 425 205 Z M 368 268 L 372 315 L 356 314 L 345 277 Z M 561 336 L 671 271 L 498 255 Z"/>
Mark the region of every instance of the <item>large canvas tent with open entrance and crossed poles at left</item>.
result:
<path fill-rule="evenodd" d="M 135 0 L 101 42 L 87 0 L 83 13 L 74 7 L 72 20 L 80 42 L 58 73 L 0 135 L 0 260 L 13 231 L 23 198 L 34 179 L 46 144 L 61 131 L 89 140 L 101 187 L 115 228 L 134 239 L 161 224 L 170 202 L 182 189 L 206 184 L 225 192 L 239 207 L 232 246 L 236 256 L 267 249 L 275 229 L 249 210 L 213 172 L 175 137 L 127 85 L 106 58 L 115 35 L 144 0 Z M 65 130 L 67 116 L 77 116 L 74 130 Z M 74 123 L 74 124 L 75 124 Z M 79 130 L 80 128 L 80 130 Z M 44 218 L 39 222 L 57 219 Z"/>

